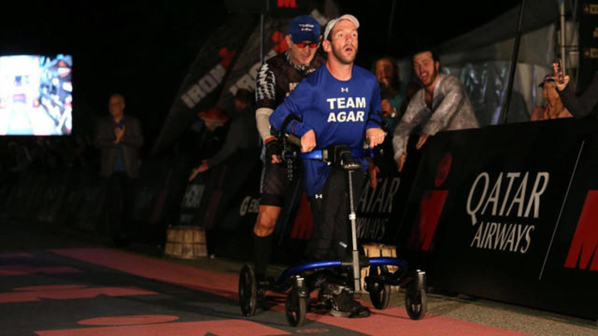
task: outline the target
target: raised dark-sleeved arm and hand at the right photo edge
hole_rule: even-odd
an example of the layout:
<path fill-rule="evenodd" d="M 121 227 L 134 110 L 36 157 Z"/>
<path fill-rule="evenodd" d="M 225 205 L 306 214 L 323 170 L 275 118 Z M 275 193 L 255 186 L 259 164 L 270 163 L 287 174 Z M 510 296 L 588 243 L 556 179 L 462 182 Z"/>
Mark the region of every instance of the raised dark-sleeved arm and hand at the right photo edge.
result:
<path fill-rule="evenodd" d="M 594 78 L 581 96 L 575 96 L 573 88 L 569 85 L 569 76 L 563 76 L 559 72 L 557 63 L 553 63 L 554 78 L 556 78 L 557 93 L 563 100 L 563 104 L 576 118 L 585 117 L 593 113 L 596 115 L 596 106 L 598 105 L 598 71 L 594 73 Z"/>

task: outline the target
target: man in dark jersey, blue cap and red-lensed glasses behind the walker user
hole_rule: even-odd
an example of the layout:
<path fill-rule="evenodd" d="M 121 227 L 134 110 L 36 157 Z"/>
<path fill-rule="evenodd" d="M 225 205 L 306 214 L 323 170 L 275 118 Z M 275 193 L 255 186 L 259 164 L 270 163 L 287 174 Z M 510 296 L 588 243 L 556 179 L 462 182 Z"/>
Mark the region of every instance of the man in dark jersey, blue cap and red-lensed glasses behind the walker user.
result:
<path fill-rule="evenodd" d="M 264 63 L 257 76 L 255 118 L 258 131 L 266 147 L 266 160 L 261 181 L 260 210 L 254 226 L 255 276 L 266 276 L 270 260 L 271 234 L 282 208 L 285 191 L 289 187 L 286 166 L 277 156 L 282 151 L 279 140 L 270 133 L 270 114 L 291 93 L 307 74 L 315 71 L 326 59 L 319 50 L 320 25 L 310 16 L 291 20 L 286 35 L 289 50 Z"/>

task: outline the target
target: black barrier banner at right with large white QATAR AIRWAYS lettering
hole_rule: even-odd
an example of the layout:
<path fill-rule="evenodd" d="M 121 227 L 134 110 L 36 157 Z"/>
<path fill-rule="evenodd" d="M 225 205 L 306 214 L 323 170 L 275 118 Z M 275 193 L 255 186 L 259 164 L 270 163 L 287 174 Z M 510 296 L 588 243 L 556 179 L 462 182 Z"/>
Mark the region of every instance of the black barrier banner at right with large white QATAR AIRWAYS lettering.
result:
<path fill-rule="evenodd" d="M 586 197 L 588 189 L 581 185 L 597 180 L 585 166 L 591 167 L 590 161 L 581 160 L 586 139 L 596 131 L 596 120 L 570 119 L 445 132 L 429 139 L 402 223 L 410 228 L 402 236 L 405 248 L 426 255 L 429 283 L 598 316 L 598 292 L 589 286 L 598 273 L 575 274 L 575 268 L 563 267 L 572 222 L 584 203 L 572 200 Z M 579 169 L 586 169 L 585 176 L 576 176 Z M 572 181 L 580 187 L 571 188 Z M 588 231 L 584 224 L 580 230 Z M 590 250 L 591 245 L 584 246 L 579 255 Z M 572 253 L 569 265 L 575 248 Z M 581 260 L 584 266 L 588 258 Z"/>

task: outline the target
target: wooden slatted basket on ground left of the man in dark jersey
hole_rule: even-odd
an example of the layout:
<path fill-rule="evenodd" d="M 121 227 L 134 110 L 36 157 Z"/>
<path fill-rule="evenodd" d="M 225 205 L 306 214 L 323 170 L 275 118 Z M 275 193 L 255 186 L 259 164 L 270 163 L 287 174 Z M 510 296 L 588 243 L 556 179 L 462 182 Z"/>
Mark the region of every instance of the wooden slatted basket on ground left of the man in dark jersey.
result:
<path fill-rule="evenodd" d="M 164 255 L 179 259 L 196 259 L 208 256 L 206 230 L 191 225 L 176 225 L 166 230 Z"/>

